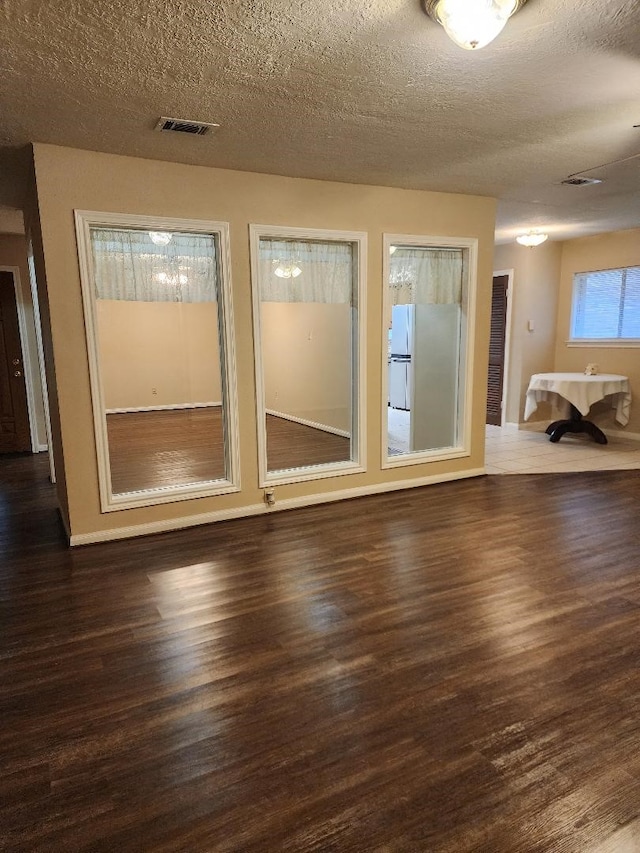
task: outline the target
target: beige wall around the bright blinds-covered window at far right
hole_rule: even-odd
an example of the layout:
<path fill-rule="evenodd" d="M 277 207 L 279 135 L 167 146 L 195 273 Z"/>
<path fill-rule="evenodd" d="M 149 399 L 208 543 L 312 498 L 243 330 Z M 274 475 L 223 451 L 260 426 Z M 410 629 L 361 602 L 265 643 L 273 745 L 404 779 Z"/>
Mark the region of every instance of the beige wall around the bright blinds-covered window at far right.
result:
<path fill-rule="evenodd" d="M 633 402 L 629 424 L 624 429 L 640 433 L 640 348 L 567 346 L 574 273 L 626 266 L 640 266 L 640 228 L 567 240 L 563 244 L 555 370 L 582 371 L 585 365 L 595 362 L 600 365 L 601 373 L 628 376 Z M 606 402 L 592 407 L 590 419 L 600 424 L 605 432 L 623 429 L 614 420 L 613 410 Z"/>

